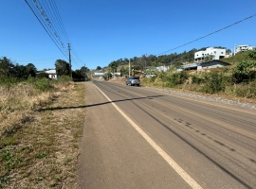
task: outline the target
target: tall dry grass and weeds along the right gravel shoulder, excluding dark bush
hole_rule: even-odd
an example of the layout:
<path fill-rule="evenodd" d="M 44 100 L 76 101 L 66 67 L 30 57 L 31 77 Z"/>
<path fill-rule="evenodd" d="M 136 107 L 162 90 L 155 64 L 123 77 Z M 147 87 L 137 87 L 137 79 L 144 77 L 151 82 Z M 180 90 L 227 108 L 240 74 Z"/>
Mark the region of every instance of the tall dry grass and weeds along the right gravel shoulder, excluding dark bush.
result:
<path fill-rule="evenodd" d="M 183 72 L 161 72 L 157 77 L 144 78 L 142 84 L 148 86 L 167 87 L 189 90 L 204 94 L 221 94 L 226 96 L 256 98 L 256 74 L 250 70 L 249 79 L 240 79 L 234 74 L 237 68 L 217 68 L 209 72 L 189 71 Z"/>

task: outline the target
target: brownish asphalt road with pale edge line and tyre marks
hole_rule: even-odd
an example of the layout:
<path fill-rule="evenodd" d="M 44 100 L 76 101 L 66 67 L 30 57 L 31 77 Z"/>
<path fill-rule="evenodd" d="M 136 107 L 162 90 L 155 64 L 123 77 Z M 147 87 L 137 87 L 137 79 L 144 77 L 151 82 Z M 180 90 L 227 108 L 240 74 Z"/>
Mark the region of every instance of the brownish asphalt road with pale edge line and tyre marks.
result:
<path fill-rule="evenodd" d="M 256 111 L 86 82 L 80 188 L 256 188 Z"/>

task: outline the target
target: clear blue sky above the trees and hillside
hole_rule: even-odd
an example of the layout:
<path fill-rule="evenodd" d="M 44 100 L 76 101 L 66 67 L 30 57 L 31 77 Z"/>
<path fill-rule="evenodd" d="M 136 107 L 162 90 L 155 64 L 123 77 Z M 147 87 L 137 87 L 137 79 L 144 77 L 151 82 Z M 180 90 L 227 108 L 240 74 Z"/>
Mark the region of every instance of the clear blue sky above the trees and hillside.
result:
<path fill-rule="evenodd" d="M 31 0 L 30 0 L 31 1 Z M 42 0 L 38 0 L 42 1 Z M 55 0 L 71 43 L 72 69 L 113 60 L 159 55 L 256 14 L 256 1 Z M 0 57 L 54 68 L 64 54 L 25 0 L 1 0 Z M 256 46 L 256 16 L 165 54 L 192 48 Z"/>

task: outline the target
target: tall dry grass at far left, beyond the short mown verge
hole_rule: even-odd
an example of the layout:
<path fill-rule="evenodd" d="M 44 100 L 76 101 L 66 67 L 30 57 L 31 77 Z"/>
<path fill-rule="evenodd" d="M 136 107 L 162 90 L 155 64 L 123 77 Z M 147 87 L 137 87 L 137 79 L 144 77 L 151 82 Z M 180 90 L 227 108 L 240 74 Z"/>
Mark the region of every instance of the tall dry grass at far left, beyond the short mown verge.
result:
<path fill-rule="evenodd" d="M 66 77 L 60 80 L 28 78 L 17 82 L 3 79 L 0 83 L 0 138 L 20 128 L 23 122 L 30 121 L 31 112 L 45 107 L 69 85 Z"/>

